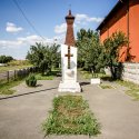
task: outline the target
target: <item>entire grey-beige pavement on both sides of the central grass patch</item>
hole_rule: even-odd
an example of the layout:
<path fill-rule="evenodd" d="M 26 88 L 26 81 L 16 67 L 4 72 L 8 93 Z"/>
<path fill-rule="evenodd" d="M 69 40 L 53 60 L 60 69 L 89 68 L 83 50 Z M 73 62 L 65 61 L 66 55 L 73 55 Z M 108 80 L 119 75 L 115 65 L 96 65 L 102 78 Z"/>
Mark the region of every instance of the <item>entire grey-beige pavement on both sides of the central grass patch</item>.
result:
<path fill-rule="evenodd" d="M 0 139 L 43 139 L 41 123 L 52 107 L 59 80 L 40 81 L 28 89 L 16 87 L 16 97 L 0 100 Z M 102 90 L 82 82 L 82 95 L 102 126 L 95 139 L 139 139 L 139 102 L 132 101 L 122 88 Z M 50 136 L 46 139 L 89 139 L 87 136 Z"/>

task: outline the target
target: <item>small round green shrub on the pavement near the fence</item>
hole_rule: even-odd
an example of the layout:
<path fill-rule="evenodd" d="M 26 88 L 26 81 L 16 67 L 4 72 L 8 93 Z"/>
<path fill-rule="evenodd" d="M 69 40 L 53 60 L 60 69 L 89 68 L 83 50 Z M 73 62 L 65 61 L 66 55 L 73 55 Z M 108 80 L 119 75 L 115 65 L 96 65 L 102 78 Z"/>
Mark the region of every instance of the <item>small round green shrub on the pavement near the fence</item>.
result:
<path fill-rule="evenodd" d="M 29 77 L 26 79 L 26 83 L 29 87 L 36 87 L 37 85 L 36 76 L 33 73 L 29 75 Z"/>

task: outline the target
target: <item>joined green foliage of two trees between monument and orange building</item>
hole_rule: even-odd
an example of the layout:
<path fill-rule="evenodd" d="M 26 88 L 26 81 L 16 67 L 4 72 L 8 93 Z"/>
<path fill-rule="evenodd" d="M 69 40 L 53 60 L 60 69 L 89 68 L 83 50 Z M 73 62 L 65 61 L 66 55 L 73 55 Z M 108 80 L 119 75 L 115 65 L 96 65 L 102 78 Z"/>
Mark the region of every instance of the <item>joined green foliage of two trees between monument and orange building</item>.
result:
<path fill-rule="evenodd" d="M 122 64 L 119 62 L 119 52 L 129 43 L 123 32 L 113 32 L 103 43 L 100 43 L 99 33 L 92 30 L 81 29 L 77 33 L 78 66 L 99 72 L 101 68 L 109 67 L 112 79 L 120 78 Z M 127 48 L 128 52 L 128 48 Z"/>

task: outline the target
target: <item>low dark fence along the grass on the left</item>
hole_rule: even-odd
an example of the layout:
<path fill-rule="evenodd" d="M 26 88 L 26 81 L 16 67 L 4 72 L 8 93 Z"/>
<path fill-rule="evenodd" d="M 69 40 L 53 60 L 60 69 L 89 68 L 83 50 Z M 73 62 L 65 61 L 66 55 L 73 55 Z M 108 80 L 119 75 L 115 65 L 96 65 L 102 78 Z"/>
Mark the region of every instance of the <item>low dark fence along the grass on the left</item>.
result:
<path fill-rule="evenodd" d="M 0 73 L 0 80 L 10 81 L 10 79 L 16 80 L 17 78 L 23 78 L 27 77 L 30 72 L 37 72 L 37 67 L 29 67 L 23 69 L 17 69 L 17 70 L 9 70 L 6 72 Z"/>

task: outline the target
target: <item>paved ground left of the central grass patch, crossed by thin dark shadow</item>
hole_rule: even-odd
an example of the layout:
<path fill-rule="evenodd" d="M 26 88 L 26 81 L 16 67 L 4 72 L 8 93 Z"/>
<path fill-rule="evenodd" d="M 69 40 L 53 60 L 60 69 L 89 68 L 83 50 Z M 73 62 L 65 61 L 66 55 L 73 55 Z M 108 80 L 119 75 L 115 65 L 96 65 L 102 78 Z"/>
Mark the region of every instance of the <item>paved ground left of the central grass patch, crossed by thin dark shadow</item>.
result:
<path fill-rule="evenodd" d="M 22 83 L 14 88 L 16 97 L 0 100 L 0 139 L 42 139 L 41 123 L 52 106 L 58 82 L 40 81 L 36 89 Z"/>

